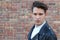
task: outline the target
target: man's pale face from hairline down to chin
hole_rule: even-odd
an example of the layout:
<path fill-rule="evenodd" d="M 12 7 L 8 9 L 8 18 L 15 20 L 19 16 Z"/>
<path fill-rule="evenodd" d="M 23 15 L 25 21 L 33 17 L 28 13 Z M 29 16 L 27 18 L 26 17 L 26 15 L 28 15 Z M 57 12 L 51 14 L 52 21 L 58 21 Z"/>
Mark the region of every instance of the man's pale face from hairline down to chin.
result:
<path fill-rule="evenodd" d="M 41 25 L 44 22 L 46 13 L 44 12 L 43 9 L 34 7 L 32 14 L 35 25 Z"/>

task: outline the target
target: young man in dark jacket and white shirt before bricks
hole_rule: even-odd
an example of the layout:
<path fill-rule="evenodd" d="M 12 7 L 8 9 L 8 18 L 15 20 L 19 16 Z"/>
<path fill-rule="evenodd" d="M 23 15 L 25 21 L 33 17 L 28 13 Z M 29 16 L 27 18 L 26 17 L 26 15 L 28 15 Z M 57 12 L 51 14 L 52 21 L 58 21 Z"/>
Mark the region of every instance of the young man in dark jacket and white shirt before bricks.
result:
<path fill-rule="evenodd" d="M 33 2 L 32 17 L 34 26 L 28 34 L 28 40 L 57 40 L 57 37 L 46 21 L 46 4 L 39 1 Z"/>

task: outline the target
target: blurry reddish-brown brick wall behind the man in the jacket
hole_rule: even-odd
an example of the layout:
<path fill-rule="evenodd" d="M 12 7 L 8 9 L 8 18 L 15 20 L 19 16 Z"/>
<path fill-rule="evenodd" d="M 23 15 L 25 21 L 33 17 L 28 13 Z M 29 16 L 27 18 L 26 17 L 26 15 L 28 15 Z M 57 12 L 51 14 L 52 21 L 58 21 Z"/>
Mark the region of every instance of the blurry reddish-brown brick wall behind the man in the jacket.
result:
<path fill-rule="evenodd" d="M 33 25 L 31 5 L 36 0 L 0 0 L 0 40 L 27 40 Z M 60 0 L 38 0 L 48 5 L 47 21 L 60 40 Z"/>

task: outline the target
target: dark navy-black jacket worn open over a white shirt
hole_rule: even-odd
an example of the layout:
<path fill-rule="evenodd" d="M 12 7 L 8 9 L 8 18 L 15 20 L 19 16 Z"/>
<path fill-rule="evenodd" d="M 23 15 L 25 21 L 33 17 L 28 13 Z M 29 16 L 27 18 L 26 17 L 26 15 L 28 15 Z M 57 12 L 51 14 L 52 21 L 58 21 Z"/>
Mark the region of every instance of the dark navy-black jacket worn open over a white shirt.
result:
<path fill-rule="evenodd" d="M 38 34 L 36 34 L 31 39 L 31 33 L 34 29 L 35 25 L 31 28 L 31 31 L 28 34 L 28 40 L 57 40 L 55 33 L 53 32 L 52 28 L 46 22 Z"/>

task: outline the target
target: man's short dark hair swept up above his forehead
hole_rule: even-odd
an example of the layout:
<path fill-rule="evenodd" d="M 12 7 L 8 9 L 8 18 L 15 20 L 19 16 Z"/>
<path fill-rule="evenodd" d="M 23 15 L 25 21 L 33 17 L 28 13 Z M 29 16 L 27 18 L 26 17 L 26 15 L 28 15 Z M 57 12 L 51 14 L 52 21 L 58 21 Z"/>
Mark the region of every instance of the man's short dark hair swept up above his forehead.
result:
<path fill-rule="evenodd" d="M 43 2 L 39 2 L 39 1 L 33 2 L 32 11 L 33 11 L 34 7 L 41 8 L 44 10 L 44 12 L 46 12 L 46 10 L 48 10 L 48 6 L 46 4 L 44 4 Z"/>

